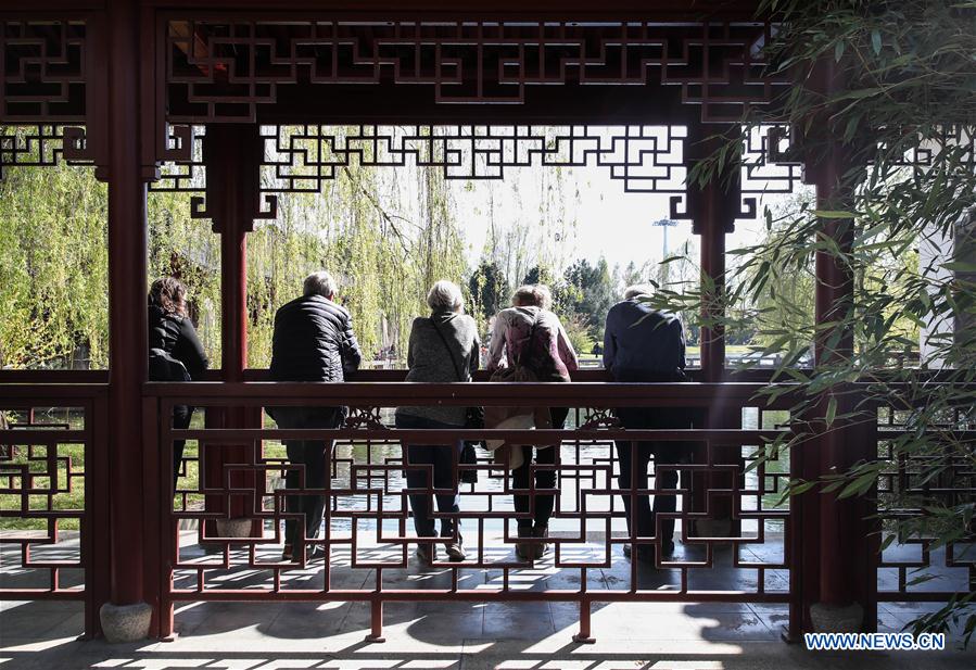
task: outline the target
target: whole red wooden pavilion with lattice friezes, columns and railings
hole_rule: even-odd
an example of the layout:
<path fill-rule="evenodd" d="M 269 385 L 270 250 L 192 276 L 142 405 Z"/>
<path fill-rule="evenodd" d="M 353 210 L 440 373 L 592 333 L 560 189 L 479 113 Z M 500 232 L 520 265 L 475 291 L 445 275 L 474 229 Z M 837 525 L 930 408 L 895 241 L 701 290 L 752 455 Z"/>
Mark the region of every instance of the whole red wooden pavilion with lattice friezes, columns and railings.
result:
<path fill-rule="evenodd" d="M 763 77 L 761 47 L 774 26 L 756 16 L 755 2 L 5 0 L 0 22 L 0 124 L 23 127 L 26 135 L 22 137 L 28 138 L 23 144 L 3 138 L 0 168 L 71 161 L 93 165 L 98 178 L 107 184 L 111 325 L 106 377 L 0 372 L 0 408 L 69 405 L 84 409 L 83 430 L 66 434 L 37 429 L 29 440 L 39 445 L 65 440 L 84 443 L 87 486 L 86 508 L 77 515 L 81 518 L 80 557 L 71 564 L 84 568 L 84 585 L 67 587 L 59 582 L 59 572 L 69 567 L 66 564 L 31 559 L 33 547 L 56 536 L 59 515 L 51 511 L 45 517 L 49 532 L 40 539 L 15 533 L 0 536 L 0 542 L 16 544 L 23 567 L 50 573 L 50 584 L 5 587 L 3 597 L 84 598 L 90 635 L 101 633 L 97 612 L 104 604 L 145 604 L 151 623 L 140 634 L 156 637 L 172 632 L 174 602 L 181 599 L 369 601 L 373 639 L 381 636 L 383 602 L 538 597 L 580 603 L 580 640 L 590 637 L 591 604 L 604 599 L 784 602 L 790 605 L 788 634 L 796 636 L 821 625 L 815 620 L 817 607 L 840 611 L 853 604 L 854 628 L 871 631 L 879 597 L 949 597 L 945 592 L 912 592 L 903 579 L 905 566 L 895 566 L 902 576 L 899 586 L 878 593 L 876 576 L 885 566 L 867 520 L 867 498 L 841 501 L 831 494 L 808 494 L 791 501 L 786 510 L 766 508 L 760 502 L 789 476 L 815 478 L 861 458 L 876 458 L 876 426 L 847 426 L 824 433 L 803 453 L 789 456 L 785 475 L 764 473 L 759 490 L 744 484 L 741 445 L 758 443 L 768 431 L 743 430 L 741 409 L 758 405 L 755 393 L 766 380 L 760 374 L 728 376 L 721 331 L 702 334 L 701 368 L 695 381 L 676 385 L 614 384 L 594 371 L 556 390 L 547 384 L 499 390 L 496 384 L 472 383 L 460 391 L 439 385 L 417 391 L 405 387 L 402 372 L 390 371 L 364 372 L 341 388 L 322 384 L 309 390 L 263 382 L 262 370 L 245 366 L 248 231 L 255 219 L 275 216 L 276 192 L 317 189 L 330 178 L 330 166 L 354 156 L 380 162 L 377 156 L 382 154 L 390 162 L 426 161 L 444 169 L 457 168 L 452 164 L 452 149 L 465 142 L 480 147 L 489 162 L 512 165 L 519 147 L 531 146 L 530 127 L 537 125 L 580 129 L 579 136 L 573 130 L 561 140 L 572 147 L 570 153 L 592 153 L 608 166 L 614 165 L 614 159 L 598 146 L 594 149 L 585 127 L 685 128 L 684 137 L 675 136 L 684 146 L 681 164 L 657 165 L 666 176 L 672 175 L 707 156 L 715 146 L 714 136 L 734 130 L 747 106 L 769 108 L 774 118 L 776 96 L 784 87 L 829 85 L 826 77 L 806 83 Z M 340 150 L 321 131 L 328 124 L 366 129 L 410 124 L 420 130 L 409 144 L 400 146 L 389 137 L 360 130 L 356 146 Z M 302 126 L 304 132 L 299 139 L 279 136 L 281 126 Z M 524 129 L 521 137 L 520 128 Z M 481 139 L 476 139 L 478 132 Z M 763 164 L 782 161 L 776 138 L 774 134 L 761 138 L 756 151 Z M 274 187 L 261 178 L 269 167 L 269 142 L 278 142 L 278 160 L 288 161 L 277 165 L 280 179 Z M 318 153 L 309 153 L 309 148 Z M 614 169 L 625 173 L 633 168 L 626 174 L 637 178 L 638 170 L 626 159 L 616 165 Z M 817 197 L 831 200 L 837 175 L 844 170 L 839 152 L 803 167 Z M 800 179 L 799 166 L 786 168 L 781 179 L 793 186 Z M 194 212 L 212 219 L 223 240 L 220 369 L 212 383 L 148 383 L 147 198 L 152 189 L 201 188 L 189 177 L 201 169 L 205 187 L 195 194 Z M 755 207 L 755 195 L 737 177 L 684 190 L 675 194 L 672 216 L 690 220 L 701 236 L 702 271 L 718 278 L 717 290 L 721 290 L 725 236 L 736 218 L 749 214 L 750 203 Z M 826 232 L 832 232 L 829 226 Z M 826 257 L 817 273 L 822 281 L 816 289 L 816 316 L 826 320 L 849 295 L 851 285 Z M 817 353 L 823 355 L 822 350 Z M 267 508 L 255 506 L 255 500 L 269 495 L 263 488 L 263 473 L 271 466 L 262 464 L 254 450 L 259 452 L 262 439 L 286 433 L 262 429 L 257 417 L 269 400 L 301 404 L 303 399 L 309 402 L 309 395 L 315 402 L 337 399 L 360 408 L 395 406 L 418 395 L 429 403 L 454 404 L 510 404 L 520 399 L 596 409 L 621 402 L 706 407 L 706 429 L 675 435 L 705 445 L 693 467 L 699 482 L 695 503 L 688 503 L 680 518 L 701 522 L 697 531 L 692 530 L 695 524 L 686 524 L 685 541 L 697 541 L 706 553 L 701 559 L 664 566 L 681 574 L 672 592 L 642 590 L 636 583 L 621 592 L 596 592 L 587 587 L 586 566 L 559 556 L 556 560 L 562 567 L 581 571 L 578 590 L 518 592 L 509 589 L 507 580 L 509 570 L 517 567 L 508 565 L 502 566 L 506 583 L 496 592 L 466 591 L 457 583 L 428 592 L 384 590 L 382 571 L 402 564 L 367 560 L 358 567 L 376 570 L 376 587 L 330 589 L 327 577 L 324 585 L 310 591 L 284 589 L 286 568 L 262 564 L 255 554 L 262 523 L 254 519 L 268 518 L 261 516 L 267 515 Z M 206 509 L 193 514 L 185 507 L 186 497 L 183 507 L 168 504 L 168 445 L 179 433 L 161 417 L 169 416 L 178 399 L 207 408 L 206 428 L 183 434 L 214 445 L 210 463 L 216 479 L 205 488 L 201 484 L 207 495 Z M 775 408 L 770 404 L 760 412 Z M 335 435 L 390 438 L 369 420 L 375 415 L 364 410 L 357 416 L 358 425 L 346 426 Z M 578 443 L 621 433 L 625 431 L 596 425 L 559 432 Z M 633 431 L 626 434 L 633 437 Z M 26 444 L 23 431 L 15 433 L 12 428 L 0 435 L 0 442 Z M 370 467 L 370 477 L 378 477 L 390 466 Z M 28 491 L 28 477 L 3 470 L 0 478 L 5 493 L 25 497 L 38 493 Z M 581 480 L 575 481 L 579 492 Z M 593 482 L 591 489 L 599 494 Z M 351 486 L 355 489 L 354 483 Z M 603 493 L 609 496 L 612 490 Z M 26 506 L 18 514 L 37 517 Z M 194 514 L 201 521 L 200 532 L 208 533 L 223 551 L 223 562 L 207 570 L 259 567 L 274 573 L 272 586 L 221 587 L 206 582 L 206 570 L 180 562 L 178 520 Z M 4 516 L 13 515 L 5 510 Z M 585 516 L 585 507 L 579 516 Z M 242 533 L 251 538 L 231 538 L 227 524 L 213 523 L 241 518 L 251 520 L 246 524 L 251 532 Z M 758 520 L 758 540 L 741 534 L 746 519 Z M 763 529 L 772 520 L 782 523 L 782 556 L 748 558 L 743 549 L 762 543 Z M 708 521 L 724 521 L 724 527 Z M 355 533 L 351 543 L 355 554 Z M 712 549 L 721 545 L 733 546 L 735 567 L 758 574 L 750 589 L 696 587 L 695 570 L 711 566 Z M 233 554 L 241 547 L 251 552 L 243 562 Z M 607 547 L 607 557 L 600 560 L 610 560 Z M 176 584 L 174 570 L 179 569 L 197 574 L 195 585 Z"/>

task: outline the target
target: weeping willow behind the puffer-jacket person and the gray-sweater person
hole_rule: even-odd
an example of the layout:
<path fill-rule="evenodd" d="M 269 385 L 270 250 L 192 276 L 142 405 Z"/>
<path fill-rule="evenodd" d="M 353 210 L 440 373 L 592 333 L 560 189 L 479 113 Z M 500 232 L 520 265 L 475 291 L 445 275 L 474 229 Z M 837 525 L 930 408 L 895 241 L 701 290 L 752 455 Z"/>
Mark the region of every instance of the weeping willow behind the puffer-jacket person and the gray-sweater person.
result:
<path fill-rule="evenodd" d="M 355 128 L 330 128 L 337 141 Z M 395 129 L 393 131 L 396 131 Z M 367 152 L 364 162 L 376 156 Z M 462 235 L 445 175 L 433 167 L 378 168 L 351 161 L 318 193 L 279 195 L 279 217 L 249 237 L 250 364 L 270 358 L 275 309 L 309 271 L 328 269 L 352 313 L 367 358 L 404 357 L 415 316 L 438 279 L 461 283 Z"/>

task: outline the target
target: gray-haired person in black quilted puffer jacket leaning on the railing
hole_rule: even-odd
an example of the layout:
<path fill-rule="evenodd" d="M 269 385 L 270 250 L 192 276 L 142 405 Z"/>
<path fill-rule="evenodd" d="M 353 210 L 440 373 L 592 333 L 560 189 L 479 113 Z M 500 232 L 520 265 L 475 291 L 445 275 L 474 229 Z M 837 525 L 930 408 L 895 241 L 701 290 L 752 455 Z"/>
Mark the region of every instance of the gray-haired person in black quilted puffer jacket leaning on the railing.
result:
<path fill-rule="evenodd" d="M 348 311 L 334 302 L 335 282 L 326 271 L 305 278 L 304 295 L 282 305 L 275 314 L 271 340 L 270 377 L 272 381 L 344 381 L 359 367 L 363 355 L 353 333 Z M 338 428 L 344 407 L 272 407 L 268 414 L 279 428 Z M 322 489 L 326 482 L 325 440 L 287 440 L 292 466 L 284 477 L 286 489 Z M 303 485 L 304 482 L 304 485 Z M 284 521 L 286 560 L 299 560 L 306 539 L 318 536 L 325 511 L 321 495 L 291 495 L 286 500 L 289 514 L 305 517 L 304 529 L 294 518 Z M 318 551 L 313 558 L 324 555 Z"/>

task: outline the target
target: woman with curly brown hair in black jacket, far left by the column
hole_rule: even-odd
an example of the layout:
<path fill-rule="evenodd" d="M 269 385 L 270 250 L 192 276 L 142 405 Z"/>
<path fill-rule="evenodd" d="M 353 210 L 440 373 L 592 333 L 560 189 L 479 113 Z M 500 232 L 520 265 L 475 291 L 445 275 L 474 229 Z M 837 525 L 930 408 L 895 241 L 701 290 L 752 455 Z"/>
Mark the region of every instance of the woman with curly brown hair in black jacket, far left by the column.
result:
<path fill-rule="evenodd" d="M 150 381 L 200 381 L 210 361 L 187 316 L 187 289 L 178 279 L 163 277 L 149 290 Z M 173 428 L 190 427 L 193 407 L 173 408 Z M 179 479 L 186 440 L 173 441 L 173 486 Z"/>

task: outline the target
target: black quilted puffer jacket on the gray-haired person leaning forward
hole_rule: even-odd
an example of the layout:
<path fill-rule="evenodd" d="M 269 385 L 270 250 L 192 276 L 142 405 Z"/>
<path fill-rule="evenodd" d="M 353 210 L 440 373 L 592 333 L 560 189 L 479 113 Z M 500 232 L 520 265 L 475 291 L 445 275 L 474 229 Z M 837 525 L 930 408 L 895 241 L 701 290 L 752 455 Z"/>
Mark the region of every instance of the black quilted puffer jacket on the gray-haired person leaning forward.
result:
<path fill-rule="evenodd" d="M 303 295 L 275 314 L 274 381 L 343 381 L 362 358 L 345 307 L 321 295 Z"/>

